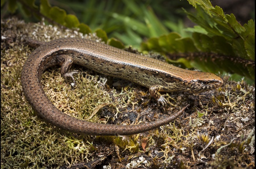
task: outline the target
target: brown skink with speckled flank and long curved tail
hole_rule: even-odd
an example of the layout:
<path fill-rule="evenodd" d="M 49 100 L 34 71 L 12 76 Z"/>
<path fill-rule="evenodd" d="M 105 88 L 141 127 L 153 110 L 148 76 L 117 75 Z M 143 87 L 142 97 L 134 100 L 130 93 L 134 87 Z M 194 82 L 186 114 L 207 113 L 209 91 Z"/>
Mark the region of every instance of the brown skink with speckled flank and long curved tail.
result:
<path fill-rule="evenodd" d="M 33 51 L 24 64 L 21 74 L 24 94 L 38 114 L 52 125 L 87 135 L 130 135 L 152 130 L 176 119 L 187 106 L 173 116 L 140 125 L 107 125 L 72 118 L 54 107 L 41 86 L 42 72 L 54 64 L 62 65 L 63 77 L 72 77 L 73 73 L 69 72 L 72 62 L 143 85 L 163 105 L 165 100 L 159 91 L 199 93 L 223 84 L 222 79 L 212 73 L 184 70 L 95 41 L 76 38 L 53 40 Z"/>

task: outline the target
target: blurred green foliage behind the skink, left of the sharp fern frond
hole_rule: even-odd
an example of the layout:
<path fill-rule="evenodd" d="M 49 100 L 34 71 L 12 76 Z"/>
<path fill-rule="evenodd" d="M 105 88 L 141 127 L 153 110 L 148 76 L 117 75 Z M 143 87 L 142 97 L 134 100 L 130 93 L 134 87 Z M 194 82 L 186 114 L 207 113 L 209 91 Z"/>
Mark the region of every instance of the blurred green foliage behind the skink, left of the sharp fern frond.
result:
<path fill-rule="evenodd" d="M 3 6 L 4 1 L 1 2 Z M 16 11 L 17 15 L 28 22 L 38 21 L 38 17 L 28 17 L 28 13 L 24 13 L 26 9 L 24 4 L 33 9 L 30 10 L 30 15 L 37 14 L 35 11 L 40 9 L 41 14 L 68 28 L 78 27 L 83 33 L 90 33 L 91 30 L 94 32 L 100 28 L 106 31 L 109 37 L 119 39 L 135 48 L 139 48 L 145 38 L 159 37 L 170 31 L 178 32 L 183 37 L 191 35 L 183 30 L 182 18 L 186 17 L 186 14 L 182 7 L 191 8 L 186 1 L 7 0 L 7 2 L 12 13 Z M 87 26 L 81 26 L 80 23 Z"/>

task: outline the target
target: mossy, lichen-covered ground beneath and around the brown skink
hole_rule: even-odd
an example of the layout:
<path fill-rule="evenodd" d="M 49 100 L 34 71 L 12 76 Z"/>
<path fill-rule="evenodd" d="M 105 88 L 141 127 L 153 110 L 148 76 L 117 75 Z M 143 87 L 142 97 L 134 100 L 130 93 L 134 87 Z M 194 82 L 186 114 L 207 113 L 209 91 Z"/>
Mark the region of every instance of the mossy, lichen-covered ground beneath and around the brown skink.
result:
<path fill-rule="evenodd" d="M 147 163 L 139 165 L 151 168 L 254 167 L 255 91 L 243 79 L 237 83 L 224 76 L 225 84 L 212 93 L 169 93 L 170 106 L 163 110 L 147 88 L 129 81 L 113 79 L 105 85 L 106 76 L 74 65 L 72 70 L 79 73 L 73 88 L 61 77 L 58 66 L 46 70 L 43 88 L 54 105 L 95 123 L 136 125 L 191 105 L 173 123 L 149 132 L 85 136 L 45 122 L 26 101 L 20 85 L 22 65 L 33 51 L 24 38 L 49 41 L 85 36 L 15 18 L 2 21 L 1 36 L 1 167 L 59 168 L 82 163 L 89 168 L 121 168 L 141 156 Z M 93 34 L 86 38 L 97 39 Z"/>

